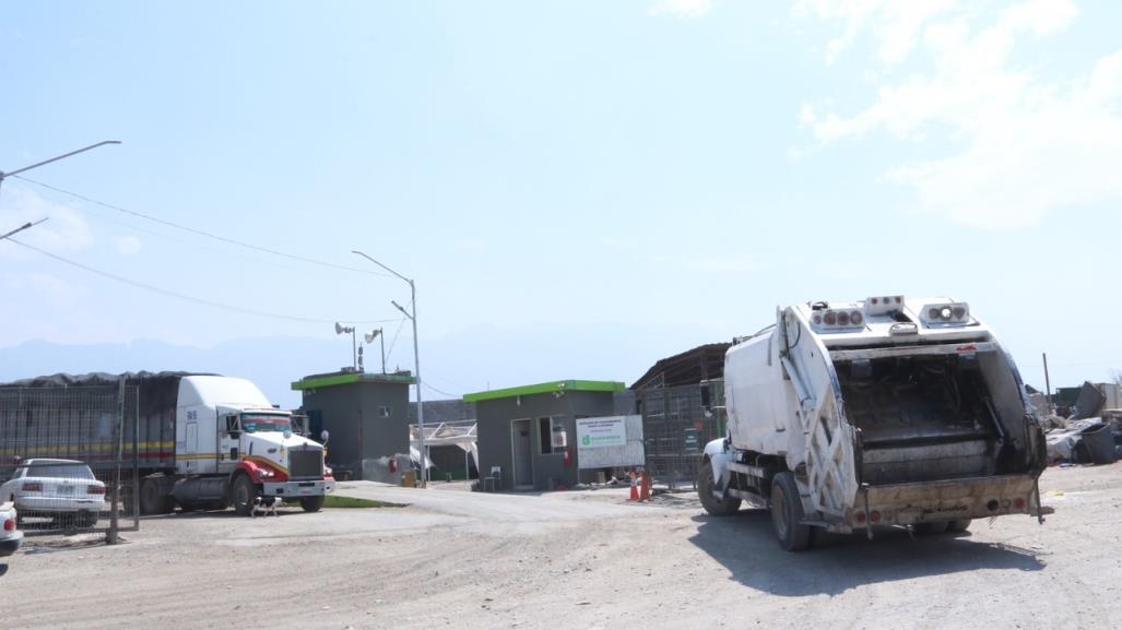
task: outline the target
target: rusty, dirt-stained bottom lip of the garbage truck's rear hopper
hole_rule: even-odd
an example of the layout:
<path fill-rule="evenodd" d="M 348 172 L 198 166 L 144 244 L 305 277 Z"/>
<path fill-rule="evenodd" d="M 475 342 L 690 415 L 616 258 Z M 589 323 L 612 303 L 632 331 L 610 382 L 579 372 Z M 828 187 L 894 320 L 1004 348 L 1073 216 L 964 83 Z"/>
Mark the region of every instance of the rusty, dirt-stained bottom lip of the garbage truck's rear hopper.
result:
<path fill-rule="evenodd" d="M 871 485 L 846 515 L 850 527 L 1041 513 L 1037 478 L 1020 474 Z"/>

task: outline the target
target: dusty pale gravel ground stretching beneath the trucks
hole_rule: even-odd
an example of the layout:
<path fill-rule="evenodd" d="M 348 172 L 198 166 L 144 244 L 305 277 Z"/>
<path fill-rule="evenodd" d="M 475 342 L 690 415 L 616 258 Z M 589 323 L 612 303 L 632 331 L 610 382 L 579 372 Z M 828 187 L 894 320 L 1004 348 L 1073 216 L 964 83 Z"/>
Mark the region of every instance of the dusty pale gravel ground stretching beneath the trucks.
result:
<path fill-rule="evenodd" d="M 0 580 L 3 628 L 1116 628 L 1122 463 L 1051 469 L 1043 526 L 778 548 L 766 512 L 691 494 L 340 493 L 404 508 L 155 517 L 128 544 L 35 541 Z"/>

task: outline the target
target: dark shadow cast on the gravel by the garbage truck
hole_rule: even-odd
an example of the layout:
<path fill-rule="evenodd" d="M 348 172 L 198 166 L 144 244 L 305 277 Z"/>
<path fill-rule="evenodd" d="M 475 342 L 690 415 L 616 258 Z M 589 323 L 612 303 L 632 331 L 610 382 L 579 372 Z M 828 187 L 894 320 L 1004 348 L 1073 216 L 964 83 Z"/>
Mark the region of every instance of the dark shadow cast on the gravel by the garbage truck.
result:
<path fill-rule="evenodd" d="M 836 595 L 880 582 L 946 575 L 980 568 L 1040 571 L 1045 564 L 1027 550 L 972 540 L 969 534 L 917 537 L 903 529 L 827 536 L 803 553 L 784 552 L 775 541 L 766 510 L 735 517 L 697 516 L 690 541 L 724 565 L 732 578 L 774 595 Z"/>

